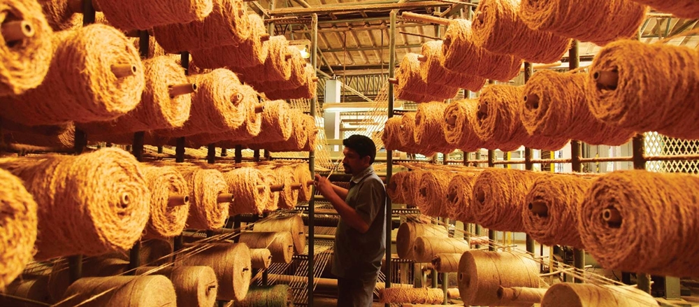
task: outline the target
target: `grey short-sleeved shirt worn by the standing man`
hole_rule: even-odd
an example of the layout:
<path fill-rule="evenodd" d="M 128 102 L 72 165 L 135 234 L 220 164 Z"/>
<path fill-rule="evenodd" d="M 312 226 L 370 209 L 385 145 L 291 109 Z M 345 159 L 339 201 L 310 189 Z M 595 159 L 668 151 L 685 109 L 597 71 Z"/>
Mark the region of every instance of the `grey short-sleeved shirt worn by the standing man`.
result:
<path fill-rule="evenodd" d="M 352 177 L 345 202 L 359 213 L 369 230 L 362 234 L 340 218 L 332 272 L 344 278 L 375 279 L 386 251 L 386 190 L 372 166 Z"/>

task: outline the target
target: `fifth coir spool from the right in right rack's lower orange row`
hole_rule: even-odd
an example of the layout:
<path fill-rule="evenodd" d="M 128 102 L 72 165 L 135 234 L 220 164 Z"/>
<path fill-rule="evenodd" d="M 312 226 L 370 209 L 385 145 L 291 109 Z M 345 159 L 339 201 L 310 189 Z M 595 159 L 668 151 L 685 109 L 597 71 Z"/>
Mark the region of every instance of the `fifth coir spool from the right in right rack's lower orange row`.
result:
<path fill-rule="evenodd" d="M 451 171 L 426 171 L 417 183 L 415 204 L 420 213 L 432 217 L 447 217 L 447 187 L 456 173 Z"/>

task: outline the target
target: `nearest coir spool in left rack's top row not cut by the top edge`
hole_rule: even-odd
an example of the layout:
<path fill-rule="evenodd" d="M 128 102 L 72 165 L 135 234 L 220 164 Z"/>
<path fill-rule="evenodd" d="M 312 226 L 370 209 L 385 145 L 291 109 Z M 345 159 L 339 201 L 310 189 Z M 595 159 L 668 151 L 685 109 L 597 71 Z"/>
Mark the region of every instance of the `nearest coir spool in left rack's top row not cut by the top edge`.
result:
<path fill-rule="evenodd" d="M 226 66 L 252 67 L 262 65 L 267 59 L 269 36 L 264 20 L 257 14 L 247 15 L 250 36 L 237 46 L 222 45 L 213 48 L 192 50 L 192 58 L 203 68 L 218 69 Z"/>

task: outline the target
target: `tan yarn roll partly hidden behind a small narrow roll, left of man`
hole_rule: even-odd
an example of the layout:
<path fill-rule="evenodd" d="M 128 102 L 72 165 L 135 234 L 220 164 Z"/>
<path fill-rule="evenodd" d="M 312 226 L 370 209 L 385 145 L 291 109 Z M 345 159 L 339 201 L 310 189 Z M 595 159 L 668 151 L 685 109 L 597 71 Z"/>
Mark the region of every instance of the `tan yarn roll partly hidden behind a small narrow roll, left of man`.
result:
<path fill-rule="evenodd" d="M 266 248 L 272 254 L 272 262 L 291 262 L 294 255 L 294 240 L 289 231 L 262 232 L 249 231 L 240 234 L 240 243 L 245 243 L 249 248 Z"/>

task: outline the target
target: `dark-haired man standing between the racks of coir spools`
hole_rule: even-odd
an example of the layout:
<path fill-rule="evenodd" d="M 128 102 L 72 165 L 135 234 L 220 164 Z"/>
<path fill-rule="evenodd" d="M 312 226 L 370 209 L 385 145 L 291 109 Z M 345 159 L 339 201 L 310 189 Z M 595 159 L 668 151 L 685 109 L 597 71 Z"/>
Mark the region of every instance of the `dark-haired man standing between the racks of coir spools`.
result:
<path fill-rule="evenodd" d="M 371 167 L 376 157 L 374 142 L 353 135 L 343 145 L 345 173 L 352 174 L 349 190 L 319 175 L 315 184 L 340 214 L 332 268 L 338 276 L 338 306 L 366 307 L 372 304 L 386 250 L 386 190 Z"/>

